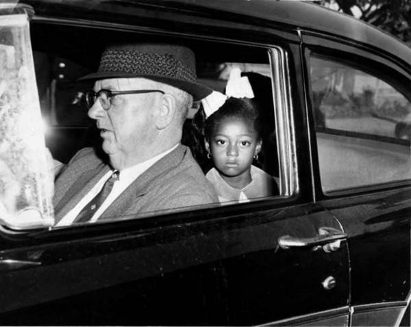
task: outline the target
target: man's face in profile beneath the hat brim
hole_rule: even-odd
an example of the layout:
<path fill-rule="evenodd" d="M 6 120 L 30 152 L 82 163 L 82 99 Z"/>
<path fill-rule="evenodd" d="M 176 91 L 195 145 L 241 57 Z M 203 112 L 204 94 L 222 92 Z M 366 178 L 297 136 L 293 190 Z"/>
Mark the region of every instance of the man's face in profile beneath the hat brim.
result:
<path fill-rule="evenodd" d="M 111 91 L 147 89 L 147 79 L 103 79 L 95 82 L 94 90 Z M 112 166 L 117 161 L 135 161 L 151 150 L 156 129 L 153 107 L 160 93 L 121 94 L 110 99 L 110 108 L 103 109 L 99 99 L 89 109 L 88 116 L 95 119 L 103 139 L 103 151 L 110 156 Z"/>

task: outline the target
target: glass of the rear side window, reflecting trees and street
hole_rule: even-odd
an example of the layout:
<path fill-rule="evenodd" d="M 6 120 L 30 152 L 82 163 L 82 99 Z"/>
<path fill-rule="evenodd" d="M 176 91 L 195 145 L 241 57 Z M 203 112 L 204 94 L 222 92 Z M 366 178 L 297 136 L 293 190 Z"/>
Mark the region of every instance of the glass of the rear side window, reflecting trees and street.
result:
<path fill-rule="evenodd" d="M 346 62 L 310 65 L 323 191 L 411 179 L 410 94 Z"/>

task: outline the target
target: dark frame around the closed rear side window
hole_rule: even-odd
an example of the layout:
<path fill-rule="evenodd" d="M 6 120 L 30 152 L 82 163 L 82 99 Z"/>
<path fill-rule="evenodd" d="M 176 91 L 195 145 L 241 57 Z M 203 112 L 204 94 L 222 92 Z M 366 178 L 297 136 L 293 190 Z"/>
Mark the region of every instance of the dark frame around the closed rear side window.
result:
<path fill-rule="evenodd" d="M 372 49 L 367 49 L 366 47 L 362 47 L 359 44 L 347 44 L 347 42 L 344 42 L 343 40 L 339 40 L 340 42 L 337 43 L 335 42 L 335 40 L 327 40 L 327 38 L 325 37 L 322 40 L 323 42 L 319 42 L 319 40 L 321 40 L 321 36 L 314 37 L 311 35 L 306 38 L 306 40 L 308 40 L 308 42 L 303 44 L 303 60 L 306 63 L 305 73 L 308 86 L 306 97 L 310 124 L 310 140 L 313 145 L 311 156 L 313 163 L 313 178 L 316 200 L 325 200 L 328 198 L 335 198 L 340 196 L 352 196 L 353 194 L 380 192 L 384 189 L 394 189 L 397 187 L 411 185 L 411 179 L 406 179 L 401 181 L 386 181 L 384 183 L 375 183 L 372 185 L 353 186 L 347 189 L 336 189 L 331 191 L 323 190 L 319 166 L 318 144 L 316 140 L 316 133 L 323 132 L 323 129 L 319 131 L 315 127 L 314 101 L 312 99 L 312 84 L 310 81 L 311 57 L 314 55 L 316 58 L 331 60 L 332 62 L 344 64 L 351 68 L 358 69 L 364 73 L 371 74 L 373 77 L 381 79 L 382 81 L 395 88 L 397 92 L 401 93 L 410 102 L 411 90 L 409 92 L 405 92 L 405 90 L 408 90 L 406 84 L 411 84 L 411 75 L 408 74 L 406 70 L 403 70 L 403 68 L 396 62 L 394 62 L 394 60 L 383 57 L 382 54 L 380 56 L 379 53 L 375 53 L 375 51 L 373 51 Z M 338 44 L 338 46 L 336 46 L 336 44 Z M 347 60 L 347 57 L 350 59 Z M 382 68 L 382 66 L 384 66 L 384 68 Z M 393 83 L 393 80 L 395 80 L 396 83 Z M 408 96 L 406 96 L 406 94 L 408 94 Z M 367 138 L 366 133 L 363 134 L 351 131 L 343 131 L 343 133 L 341 133 L 340 130 L 336 129 L 327 130 L 334 132 L 332 134 L 336 135 L 346 135 L 351 137 L 356 136 L 360 139 Z M 402 145 L 406 143 L 406 141 L 403 142 L 403 140 L 388 137 L 381 137 L 380 140 Z M 396 140 L 396 142 L 393 142 L 393 140 Z"/>

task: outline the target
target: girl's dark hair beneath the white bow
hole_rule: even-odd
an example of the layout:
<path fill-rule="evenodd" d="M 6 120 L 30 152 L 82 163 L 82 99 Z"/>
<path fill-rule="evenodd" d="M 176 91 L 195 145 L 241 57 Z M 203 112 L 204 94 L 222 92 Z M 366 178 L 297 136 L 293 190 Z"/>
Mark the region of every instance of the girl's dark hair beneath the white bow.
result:
<path fill-rule="evenodd" d="M 258 138 L 262 138 L 262 123 L 253 102 L 247 98 L 229 98 L 216 112 L 206 119 L 204 124 L 204 136 L 206 139 L 210 140 L 219 122 L 227 119 L 240 119 L 249 122 L 256 130 Z"/>

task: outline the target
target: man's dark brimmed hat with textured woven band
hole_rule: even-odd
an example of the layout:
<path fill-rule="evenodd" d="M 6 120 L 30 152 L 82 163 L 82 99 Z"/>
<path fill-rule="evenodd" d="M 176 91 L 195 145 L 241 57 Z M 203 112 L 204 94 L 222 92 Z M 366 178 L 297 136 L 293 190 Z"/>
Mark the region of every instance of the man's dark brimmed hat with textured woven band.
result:
<path fill-rule="evenodd" d="M 175 86 L 201 100 L 212 89 L 197 82 L 195 55 L 173 44 L 116 44 L 101 55 L 97 73 L 79 80 L 144 77 Z"/>

